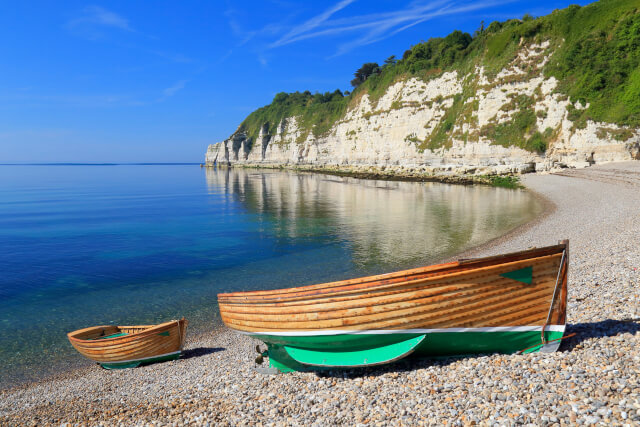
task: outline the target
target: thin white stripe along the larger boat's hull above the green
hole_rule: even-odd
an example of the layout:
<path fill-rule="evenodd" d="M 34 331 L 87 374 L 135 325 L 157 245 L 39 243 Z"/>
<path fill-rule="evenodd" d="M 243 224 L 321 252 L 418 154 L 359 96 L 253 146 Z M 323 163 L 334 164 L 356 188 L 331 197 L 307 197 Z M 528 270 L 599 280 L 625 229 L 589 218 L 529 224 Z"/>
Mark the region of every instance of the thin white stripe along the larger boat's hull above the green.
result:
<path fill-rule="evenodd" d="M 545 331 L 564 332 L 566 325 L 547 325 Z M 542 326 L 494 326 L 487 328 L 439 328 L 439 329 L 390 329 L 390 330 L 330 330 L 330 331 L 283 331 L 283 332 L 246 332 L 245 335 L 273 335 L 283 337 L 325 336 L 325 335 L 385 335 L 385 334 L 430 334 L 438 332 L 542 332 Z"/>

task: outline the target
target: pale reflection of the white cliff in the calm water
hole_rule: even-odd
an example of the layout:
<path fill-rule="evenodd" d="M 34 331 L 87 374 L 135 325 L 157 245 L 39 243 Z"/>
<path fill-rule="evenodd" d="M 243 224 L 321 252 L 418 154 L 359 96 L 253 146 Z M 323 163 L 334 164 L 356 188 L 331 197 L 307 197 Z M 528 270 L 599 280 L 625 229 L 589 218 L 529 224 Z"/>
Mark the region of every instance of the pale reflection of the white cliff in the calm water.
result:
<path fill-rule="evenodd" d="M 541 211 L 525 191 L 483 186 L 226 168 L 209 168 L 206 177 L 210 191 L 237 197 L 271 237 L 337 240 L 359 268 L 371 271 L 433 262 Z"/>

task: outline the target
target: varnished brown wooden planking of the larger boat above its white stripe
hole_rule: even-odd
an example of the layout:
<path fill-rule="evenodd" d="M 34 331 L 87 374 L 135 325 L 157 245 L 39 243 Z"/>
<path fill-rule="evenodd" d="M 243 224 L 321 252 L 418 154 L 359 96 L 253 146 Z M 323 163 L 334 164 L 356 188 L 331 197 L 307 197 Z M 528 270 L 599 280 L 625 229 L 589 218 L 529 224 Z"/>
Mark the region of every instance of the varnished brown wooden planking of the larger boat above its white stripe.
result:
<path fill-rule="evenodd" d="M 220 312 L 228 326 L 247 332 L 541 326 L 565 248 L 561 244 L 325 285 L 220 294 Z M 529 266 L 531 285 L 500 277 Z M 564 266 L 554 320 L 564 319 Z"/>

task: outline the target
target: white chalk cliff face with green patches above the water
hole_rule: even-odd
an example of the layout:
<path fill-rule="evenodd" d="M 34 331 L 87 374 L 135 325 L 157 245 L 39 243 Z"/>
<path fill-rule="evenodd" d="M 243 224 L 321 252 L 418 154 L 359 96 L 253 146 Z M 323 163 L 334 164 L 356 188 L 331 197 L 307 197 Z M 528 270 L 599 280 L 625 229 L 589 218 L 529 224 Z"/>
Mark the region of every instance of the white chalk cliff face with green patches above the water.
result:
<path fill-rule="evenodd" d="M 572 111 L 586 106 L 572 103 L 556 91 L 555 78 L 542 75 L 550 50 L 548 42 L 525 46 L 493 78 L 476 67 L 465 75 L 453 71 L 426 81 L 398 81 L 377 100 L 363 95 L 319 137 L 303 132 L 296 117 L 283 119 L 272 133 L 263 126 L 255 141 L 239 130 L 209 146 L 206 164 L 490 175 L 640 159 L 638 129 L 571 120 Z M 522 135 L 513 141 L 504 136 L 525 119 L 530 124 Z M 443 132 L 445 120 L 451 124 Z M 534 136 L 546 150 L 521 148 L 515 140 Z"/>

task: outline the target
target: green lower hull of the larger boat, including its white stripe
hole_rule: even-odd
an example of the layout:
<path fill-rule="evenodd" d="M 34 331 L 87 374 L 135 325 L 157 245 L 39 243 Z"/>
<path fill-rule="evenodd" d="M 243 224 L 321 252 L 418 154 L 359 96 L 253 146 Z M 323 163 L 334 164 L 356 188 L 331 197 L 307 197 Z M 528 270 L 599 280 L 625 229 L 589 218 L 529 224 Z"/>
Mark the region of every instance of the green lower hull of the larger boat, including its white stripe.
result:
<path fill-rule="evenodd" d="M 405 357 L 552 352 L 563 334 L 564 326 L 548 328 L 546 345 L 539 327 L 249 335 L 267 345 L 271 368 L 292 372 L 381 365 Z"/>

